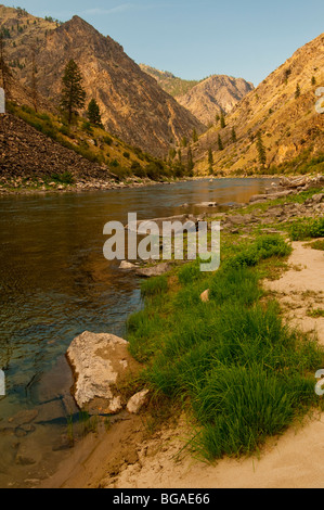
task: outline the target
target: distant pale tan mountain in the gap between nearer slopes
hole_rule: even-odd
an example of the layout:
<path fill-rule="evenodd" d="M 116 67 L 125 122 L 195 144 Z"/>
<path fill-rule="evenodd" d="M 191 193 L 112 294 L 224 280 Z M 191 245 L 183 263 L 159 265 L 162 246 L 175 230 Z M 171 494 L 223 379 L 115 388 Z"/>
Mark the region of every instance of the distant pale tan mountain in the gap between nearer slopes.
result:
<path fill-rule="evenodd" d="M 230 113 L 251 90 L 254 85 L 243 78 L 215 75 L 177 100 L 203 124 L 209 125 L 215 124 L 216 116 L 221 112 Z"/>

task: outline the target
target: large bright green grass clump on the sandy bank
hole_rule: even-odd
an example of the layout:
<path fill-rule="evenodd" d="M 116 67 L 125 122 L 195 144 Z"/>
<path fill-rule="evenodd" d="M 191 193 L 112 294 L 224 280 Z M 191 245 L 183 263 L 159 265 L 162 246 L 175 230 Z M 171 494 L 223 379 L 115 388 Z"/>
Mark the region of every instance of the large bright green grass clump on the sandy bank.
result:
<path fill-rule="evenodd" d="M 251 454 L 317 403 L 323 352 L 284 324 L 260 285 L 262 264 L 289 253 L 280 235 L 228 243 L 216 273 L 198 273 L 194 263 L 145 283 L 145 309 L 129 319 L 131 353 L 146 362 L 143 384 L 185 404 L 192 446 L 209 460 Z"/>

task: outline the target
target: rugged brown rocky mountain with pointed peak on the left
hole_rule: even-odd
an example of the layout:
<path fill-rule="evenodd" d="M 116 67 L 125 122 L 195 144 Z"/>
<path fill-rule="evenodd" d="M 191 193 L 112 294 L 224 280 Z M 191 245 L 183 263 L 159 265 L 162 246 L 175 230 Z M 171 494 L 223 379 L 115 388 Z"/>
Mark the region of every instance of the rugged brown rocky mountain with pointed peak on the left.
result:
<path fill-rule="evenodd" d="M 193 129 L 205 130 L 121 46 L 80 17 L 61 24 L 1 5 L 0 27 L 8 59 L 23 85 L 31 85 L 35 51 L 39 93 L 59 104 L 64 68 L 74 59 L 83 75 L 87 101 L 96 100 L 106 129 L 127 143 L 161 156 Z"/>

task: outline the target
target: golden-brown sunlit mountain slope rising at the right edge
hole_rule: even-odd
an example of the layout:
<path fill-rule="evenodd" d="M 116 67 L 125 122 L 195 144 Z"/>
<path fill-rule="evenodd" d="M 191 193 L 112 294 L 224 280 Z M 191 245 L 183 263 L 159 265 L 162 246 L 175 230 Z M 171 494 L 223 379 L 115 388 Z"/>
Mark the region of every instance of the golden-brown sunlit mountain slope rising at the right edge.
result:
<path fill-rule="evenodd" d="M 269 171 L 303 170 L 316 157 L 323 171 L 324 115 L 315 110 L 315 92 L 324 85 L 323 54 L 322 34 L 249 92 L 225 117 L 224 129 L 218 125 L 200 137 L 193 150 L 196 171 L 208 171 L 210 149 L 216 173 L 262 171 L 260 139 Z"/>

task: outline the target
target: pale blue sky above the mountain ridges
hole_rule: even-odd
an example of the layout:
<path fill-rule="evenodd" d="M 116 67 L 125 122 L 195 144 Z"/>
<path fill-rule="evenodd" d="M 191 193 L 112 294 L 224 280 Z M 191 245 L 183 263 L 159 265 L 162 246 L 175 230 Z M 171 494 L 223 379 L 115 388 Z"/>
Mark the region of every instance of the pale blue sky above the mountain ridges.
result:
<path fill-rule="evenodd" d="M 324 20 L 323 0 L 18 1 L 41 17 L 79 15 L 138 64 L 184 79 L 225 74 L 256 86 L 322 34 Z"/>

